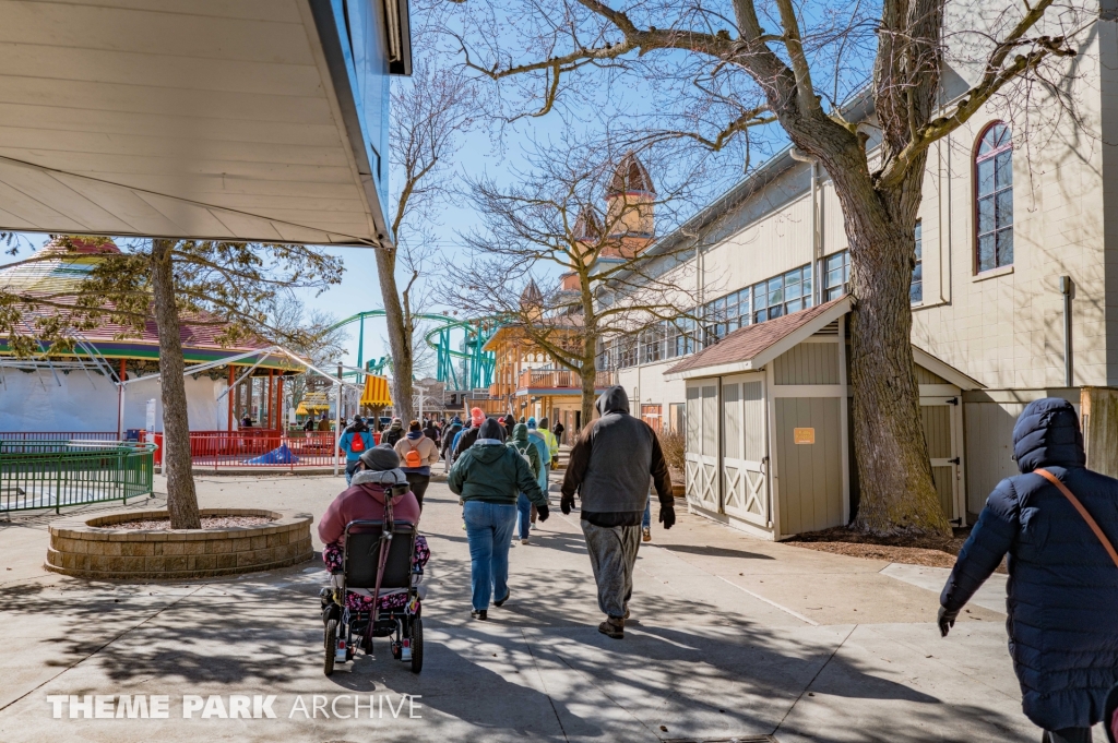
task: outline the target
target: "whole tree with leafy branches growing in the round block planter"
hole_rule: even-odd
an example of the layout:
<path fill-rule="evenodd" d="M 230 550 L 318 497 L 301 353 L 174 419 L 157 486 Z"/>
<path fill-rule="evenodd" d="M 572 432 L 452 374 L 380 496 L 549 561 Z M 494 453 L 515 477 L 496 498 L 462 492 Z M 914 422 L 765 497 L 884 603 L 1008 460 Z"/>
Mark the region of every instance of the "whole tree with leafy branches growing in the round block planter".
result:
<path fill-rule="evenodd" d="M 75 241 L 105 238 L 60 237 Z M 47 256 L 49 258 L 50 256 Z M 57 256 L 54 256 L 55 258 Z M 111 320 L 123 336 L 139 335 L 154 316 L 159 331 L 160 388 L 163 401 L 163 467 L 168 512 L 173 528 L 199 528 L 198 497 L 191 473 L 190 430 L 180 324 L 220 328 L 219 343 L 248 339 L 307 343 L 304 328 L 271 324 L 266 307 L 278 290 L 323 289 L 341 282 L 341 260 L 314 248 L 196 240 L 135 240 L 105 253 L 82 282 L 54 293 L 0 297 L 0 334 L 17 354 L 50 344 L 48 353 L 73 341 L 68 331 Z"/>

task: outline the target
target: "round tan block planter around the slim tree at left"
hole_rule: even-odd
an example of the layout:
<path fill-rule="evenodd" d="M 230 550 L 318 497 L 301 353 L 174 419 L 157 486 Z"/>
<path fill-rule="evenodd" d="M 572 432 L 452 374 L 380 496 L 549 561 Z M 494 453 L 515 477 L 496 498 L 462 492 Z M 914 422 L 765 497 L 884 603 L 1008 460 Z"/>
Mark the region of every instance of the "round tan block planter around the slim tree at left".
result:
<path fill-rule="evenodd" d="M 266 516 L 259 526 L 145 531 L 113 524 L 167 518 L 129 511 L 50 524 L 47 570 L 97 580 L 196 580 L 274 570 L 311 559 L 311 516 L 259 508 L 202 508 L 202 516 Z"/>

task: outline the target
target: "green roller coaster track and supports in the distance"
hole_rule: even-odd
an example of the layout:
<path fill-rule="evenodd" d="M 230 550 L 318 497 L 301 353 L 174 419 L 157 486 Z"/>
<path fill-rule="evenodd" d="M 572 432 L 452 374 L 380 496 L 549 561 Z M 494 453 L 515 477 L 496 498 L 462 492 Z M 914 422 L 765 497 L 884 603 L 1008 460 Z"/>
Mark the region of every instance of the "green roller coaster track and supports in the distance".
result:
<path fill-rule="evenodd" d="M 344 327 L 351 323 L 360 323 L 357 341 L 357 365 L 369 370 L 371 374 L 382 374 L 392 360 L 381 356 L 373 361 L 364 360 L 364 321 L 369 317 L 383 317 L 383 309 L 359 312 L 352 317 L 335 323 L 330 330 Z M 455 320 L 446 315 L 416 315 L 419 320 L 438 323 L 424 334 L 424 341 L 435 350 L 435 377 L 452 390 L 474 390 L 493 383 L 493 366 L 495 358 L 492 352 L 483 351 L 485 343 L 493 336 L 496 323 L 491 318 Z M 452 345 L 452 333 L 463 335 L 458 349 Z M 461 363 L 456 363 L 461 362 Z M 358 372 L 348 372 L 347 377 L 356 377 Z"/>

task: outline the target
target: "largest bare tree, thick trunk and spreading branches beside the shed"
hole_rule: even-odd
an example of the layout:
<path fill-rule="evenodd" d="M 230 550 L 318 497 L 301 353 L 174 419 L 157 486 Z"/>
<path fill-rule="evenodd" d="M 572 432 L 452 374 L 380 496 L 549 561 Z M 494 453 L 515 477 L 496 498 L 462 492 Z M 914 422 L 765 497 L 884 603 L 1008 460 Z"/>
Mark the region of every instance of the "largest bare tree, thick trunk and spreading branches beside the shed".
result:
<path fill-rule="evenodd" d="M 852 263 L 859 525 L 946 532 L 910 346 L 915 227 L 932 143 L 1035 86 L 1071 103 L 1068 58 L 1088 6 L 1054 0 L 465 2 L 447 20 L 464 65 L 520 114 L 570 112 L 591 86 L 647 94 L 634 131 L 723 150 L 778 130 L 826 169 Z M 1095 7 L 1097 18 L 1097 6 Z M 498 23 L 501 34 L 482 34 Z M 945 101 L 948 58 L 968 89 Z M 863 85 L 872 78 L 869 86 Z M 851 92 L 853 103 L 842 105 Z M 519 106 L 519 108 L 518 108 Z M 510 116 L 513 117 L 513 116 Z M 741 145 L 738 145 L 741 146 Z"/>

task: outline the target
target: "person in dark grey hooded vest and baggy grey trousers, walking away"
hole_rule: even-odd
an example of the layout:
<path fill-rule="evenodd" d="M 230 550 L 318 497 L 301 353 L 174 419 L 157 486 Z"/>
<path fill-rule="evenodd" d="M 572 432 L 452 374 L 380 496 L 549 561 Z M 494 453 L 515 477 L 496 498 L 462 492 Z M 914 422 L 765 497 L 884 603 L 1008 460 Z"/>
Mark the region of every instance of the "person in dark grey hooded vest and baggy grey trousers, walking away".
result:
<path fill-rule="evenodd" d="M 606 615 L 598 631 L 622 639 L 650 480 L 660 495 L 664 528 L 675 524 L 675 501 L 660 439 L 648 423 L 629 415 L 625 388 L 610 387 L 595 407 L 599 418 L 582 429 L 570 450 L 560 507 L 570 513 L 576 490 L 582 498 L 582 533 L 598 584 L 598 608 Z"/>

